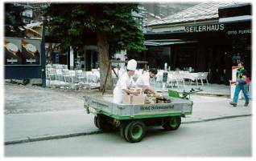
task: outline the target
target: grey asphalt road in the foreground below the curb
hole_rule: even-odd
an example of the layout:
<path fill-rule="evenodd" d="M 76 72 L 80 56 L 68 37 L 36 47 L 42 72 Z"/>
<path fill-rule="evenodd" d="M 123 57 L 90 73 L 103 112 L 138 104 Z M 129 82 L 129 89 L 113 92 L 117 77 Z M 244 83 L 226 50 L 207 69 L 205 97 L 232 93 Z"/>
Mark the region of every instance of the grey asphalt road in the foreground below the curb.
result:
<path fill-rule="evenodd" d="M 4 146 L 9 156 L 167 156 L 250 157 L 251 117 L 182 124 L 177 131 L 149 128 L 140 143 L 127 143 L 119 133 Z"/>

